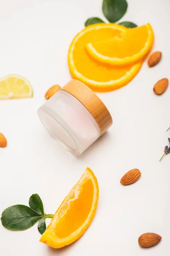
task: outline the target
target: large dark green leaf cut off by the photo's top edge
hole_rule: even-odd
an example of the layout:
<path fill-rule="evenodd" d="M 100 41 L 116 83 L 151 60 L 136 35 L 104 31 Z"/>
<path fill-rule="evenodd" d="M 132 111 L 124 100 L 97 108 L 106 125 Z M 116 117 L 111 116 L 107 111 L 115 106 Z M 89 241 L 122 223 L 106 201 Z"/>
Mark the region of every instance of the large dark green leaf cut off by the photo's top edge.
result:
<path fill-rule="evenodd" d="M 106 19 L 115 23 L 125 15 L 127 2 L 126 0 L 103 0 L 102 10 Z"/>

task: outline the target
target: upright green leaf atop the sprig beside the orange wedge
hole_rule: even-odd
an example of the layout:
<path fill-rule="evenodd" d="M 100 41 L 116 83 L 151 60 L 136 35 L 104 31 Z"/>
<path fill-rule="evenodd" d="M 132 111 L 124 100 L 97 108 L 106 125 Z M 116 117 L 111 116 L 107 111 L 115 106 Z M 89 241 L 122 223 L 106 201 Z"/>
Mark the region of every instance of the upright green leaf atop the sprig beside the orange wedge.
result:
<path fill-rule="evenodd" d="M 44 215 L 44 207 L 38 194 L 33 194 L 29 198 L 29 206 L 38 214 Z"/>

